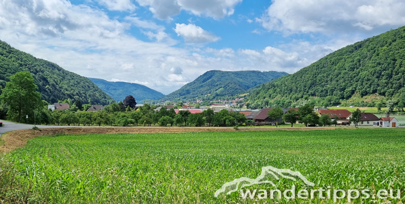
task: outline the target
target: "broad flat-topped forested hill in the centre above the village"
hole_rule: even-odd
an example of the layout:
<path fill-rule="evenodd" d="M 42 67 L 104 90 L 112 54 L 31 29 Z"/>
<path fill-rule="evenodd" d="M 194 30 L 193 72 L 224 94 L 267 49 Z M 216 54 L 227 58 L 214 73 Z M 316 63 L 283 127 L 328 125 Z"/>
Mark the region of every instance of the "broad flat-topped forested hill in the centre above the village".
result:
<path fill-rule="evenodd" d="M 192 99 L 210 100 L 221 96 L 232 96 L 286 74 L 288 73 L 275 71 L 226 72 L 212 70 L 161 99 L 188 101 Z"/>

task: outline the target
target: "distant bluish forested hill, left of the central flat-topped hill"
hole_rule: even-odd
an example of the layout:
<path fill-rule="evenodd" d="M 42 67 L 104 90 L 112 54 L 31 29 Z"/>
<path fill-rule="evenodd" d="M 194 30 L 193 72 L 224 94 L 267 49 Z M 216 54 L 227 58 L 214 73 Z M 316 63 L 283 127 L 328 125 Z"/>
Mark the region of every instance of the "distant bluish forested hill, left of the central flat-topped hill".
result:
<path fill-rule="evenodd" d="M 95 78 L 89 79 L 116 101 L 124 100 L 127 95 L 132 95 L 135 97 L 138 104 L 142 104 L 142 100 L 144 99 L 156 100 L 165 96 L 165 94 L 141 84 L 110 82 Z"/>

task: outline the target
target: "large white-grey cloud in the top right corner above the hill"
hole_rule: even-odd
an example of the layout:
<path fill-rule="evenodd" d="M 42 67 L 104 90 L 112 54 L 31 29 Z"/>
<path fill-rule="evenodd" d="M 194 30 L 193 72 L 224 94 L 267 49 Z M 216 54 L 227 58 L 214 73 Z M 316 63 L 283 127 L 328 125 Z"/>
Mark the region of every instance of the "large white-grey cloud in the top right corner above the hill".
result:
<path fill-rule="evenodd" d="M 273 0 L 256 21 L 268 30 L 287 34 L 367 32 L 404 25 L 403 11 L 403 0 Z"/>

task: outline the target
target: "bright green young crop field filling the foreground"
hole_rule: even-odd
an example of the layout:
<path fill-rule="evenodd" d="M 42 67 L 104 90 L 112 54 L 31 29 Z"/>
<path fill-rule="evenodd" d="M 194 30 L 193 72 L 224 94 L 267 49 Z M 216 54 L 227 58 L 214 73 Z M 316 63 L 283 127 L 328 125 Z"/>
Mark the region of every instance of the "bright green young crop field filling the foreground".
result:
<path fill-rule="evenodd" d="M 402 128 L 54 135 L 0 157 L 0 203 L 333 203 L 214 196 L 266 166 L 299 171 L 315 186 L 280 179 L 244 189 L 400 189 L 399 199 L 352 202 L 405 200 Z"/>

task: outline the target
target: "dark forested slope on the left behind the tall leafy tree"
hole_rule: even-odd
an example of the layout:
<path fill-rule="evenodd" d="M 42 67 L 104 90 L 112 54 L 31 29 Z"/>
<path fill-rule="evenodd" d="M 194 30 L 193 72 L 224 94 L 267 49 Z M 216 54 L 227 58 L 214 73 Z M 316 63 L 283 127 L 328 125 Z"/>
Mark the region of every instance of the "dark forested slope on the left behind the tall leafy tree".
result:
<path fill-rule="evenodd" d="M 28 71 L 34 77 L 42 99 L 56 103 L 80 99 L 84 104 L 108 104 L 113 99 L 88 78 L 66 71 L 52 62 L 37 59 L 0 40 L 0 88 L 16 72 Z"/>

